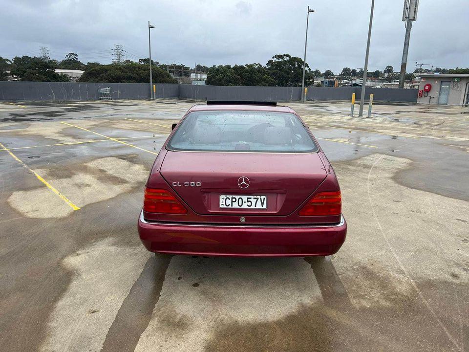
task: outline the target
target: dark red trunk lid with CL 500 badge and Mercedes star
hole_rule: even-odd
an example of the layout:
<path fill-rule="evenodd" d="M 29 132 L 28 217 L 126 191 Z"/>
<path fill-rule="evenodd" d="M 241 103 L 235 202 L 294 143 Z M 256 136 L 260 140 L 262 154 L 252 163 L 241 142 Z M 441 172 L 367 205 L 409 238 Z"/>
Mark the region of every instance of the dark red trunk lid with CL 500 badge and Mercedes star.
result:
<path fill-rule="evenodd" d="M 168 151 L 160 172 L 172 190 L 201 215 L 285 216 L 326 177 L 317 153 Z M 220 208 L 221 195 L 265 196 L 267 207 Z"/>

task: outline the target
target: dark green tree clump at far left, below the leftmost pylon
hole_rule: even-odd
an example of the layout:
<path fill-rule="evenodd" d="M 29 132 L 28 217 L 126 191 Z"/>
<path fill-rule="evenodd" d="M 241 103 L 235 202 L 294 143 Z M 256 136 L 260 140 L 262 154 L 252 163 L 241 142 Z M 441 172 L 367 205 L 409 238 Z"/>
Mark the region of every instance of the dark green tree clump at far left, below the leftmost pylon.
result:
<path fill-rule="evenodd" d="M 11 74 L 20 77 L 21 81 L 39 82 L 68 82 L 66 76 L 55 72 L 48 61 L 38 57 L 15 57 L 12 63 Z"/>

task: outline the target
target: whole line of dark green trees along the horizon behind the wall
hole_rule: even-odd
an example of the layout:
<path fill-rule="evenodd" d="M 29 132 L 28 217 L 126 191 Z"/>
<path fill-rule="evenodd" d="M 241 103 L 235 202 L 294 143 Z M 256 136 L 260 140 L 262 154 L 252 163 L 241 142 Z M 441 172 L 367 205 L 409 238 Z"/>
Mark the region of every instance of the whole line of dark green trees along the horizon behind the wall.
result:
<path fill-rule="evenodd" d="M 277 54 L 265 65 L 259 63 L 246 65 L 197 65 L 193 69 L 183 64 L 160 64 L 151 61 L 154 83 L 177 83 L 173 77 L 190 77 L 192 72 L 206 73 L 207 85 L 213 86 L 277 86 L 300 87 L 303 74 L 303 60 L 289 54 Z M 21 81 L 68 82 L 69 77 L 58 74 L 55 68 L 79 69 L 85 71 L 79 82 L 110 82 L 110 83 L 149 83 L 149 59 L 137 62 L 125 60 L 121 64 L 102 65 L 97 62 L 82 63 L 75 53 L 68 53 L 64 60 L 57 61 L 38 57 L 15 57 L 8 60 L 0 57 L 0 80 L 6 80 L 6 71 Z M 415 78 L 415 74 L 429 73 L 430 70 L 417 68 L 413 73 L 405 75 L 406 80 Z M 469 73 L 469 68 L 446 69 L 437 67 L 437 73 Z M 171 74 L 172 73 L 172 76 Z M 305 86 L 313 86 L 315 77 L 332 78 L 339 76 L 342 81 L 362 78 L 363 69 L 344 67 L 338 75 L 330 69 L 321 72 L 305 65 Z M 399 79 L 399 72 L 393 66 L 384 67 L 383 71 L 368 72 L 370 78 L 384 78 L 388 82 Z"/>

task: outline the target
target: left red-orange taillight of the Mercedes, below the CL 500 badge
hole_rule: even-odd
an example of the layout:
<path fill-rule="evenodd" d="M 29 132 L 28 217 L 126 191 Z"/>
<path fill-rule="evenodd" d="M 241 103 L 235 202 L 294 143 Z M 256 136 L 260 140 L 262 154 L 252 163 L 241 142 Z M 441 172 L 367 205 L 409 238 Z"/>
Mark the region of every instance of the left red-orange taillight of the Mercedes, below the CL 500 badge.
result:
<path fill-rule="evenodd" d="M 143 210 L 149 213 L 187 214 L 187 209 L 169 191 L 145 188 Z"/>

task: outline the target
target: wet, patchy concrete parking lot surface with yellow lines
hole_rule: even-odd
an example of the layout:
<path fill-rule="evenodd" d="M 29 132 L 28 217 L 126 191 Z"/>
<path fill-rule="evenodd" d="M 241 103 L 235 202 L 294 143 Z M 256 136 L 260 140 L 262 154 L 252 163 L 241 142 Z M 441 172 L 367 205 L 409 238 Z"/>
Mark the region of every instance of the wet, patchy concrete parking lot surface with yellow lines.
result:
<path fill-rule="evenodd" d="M 469 349 L 468 108 L 287 103 L 339 178 L 341 250 L 154 256 L 143 187 L 193 104 L 0 103 L 0 351 Z"/>

